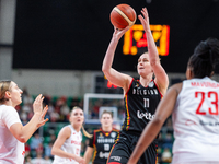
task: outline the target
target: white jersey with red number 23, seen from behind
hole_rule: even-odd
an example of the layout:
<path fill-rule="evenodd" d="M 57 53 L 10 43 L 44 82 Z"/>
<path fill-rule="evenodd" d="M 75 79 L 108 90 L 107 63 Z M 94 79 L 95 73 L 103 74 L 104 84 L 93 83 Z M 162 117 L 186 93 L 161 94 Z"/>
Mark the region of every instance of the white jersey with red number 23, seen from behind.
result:
<path fill-rule="evenodd" d="M 183 81 L 172 114 L 173 164 L 219 162 L 219 83 L 209 79 Z"/>

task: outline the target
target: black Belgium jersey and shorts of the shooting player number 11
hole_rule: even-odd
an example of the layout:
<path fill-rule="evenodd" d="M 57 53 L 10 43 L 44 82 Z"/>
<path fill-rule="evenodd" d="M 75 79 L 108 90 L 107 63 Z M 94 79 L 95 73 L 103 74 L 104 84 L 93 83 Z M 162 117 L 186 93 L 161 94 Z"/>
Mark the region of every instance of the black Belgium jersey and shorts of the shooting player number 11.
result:
<path fill-rule="evenodd" d="M 126 93 L 126 118 L 122 131 L 112 149 L 108 164 L 126 164 L 134 151 L 145 127 L 153 119 L 157 106 L 162 98 L 155 82 L 152 80 L 143 87 L 139 80 L 132 80 Z M 145 151 L 138 164 L 155 164 L 158 141 L 154 140 Z"/>

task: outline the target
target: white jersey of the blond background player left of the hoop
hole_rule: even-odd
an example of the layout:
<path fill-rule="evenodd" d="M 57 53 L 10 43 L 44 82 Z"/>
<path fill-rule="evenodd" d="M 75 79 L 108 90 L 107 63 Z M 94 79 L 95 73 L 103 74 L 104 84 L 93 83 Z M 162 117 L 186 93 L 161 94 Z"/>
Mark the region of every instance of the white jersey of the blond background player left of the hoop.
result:
<path fill-rule="evenodd" d="M 71 125 L 66 127 L 69 127 L 71 129 L 71 136 L 64 142 L 64 144 L 61 145 L 61 150 L 80 156 L 81 141 L 82 141 L 81 131 L 77 132 Z M 76 162 L 74 160 L 59 157 L 55 155 L 53 164 L 79 164 L 79 163 Z"/>

